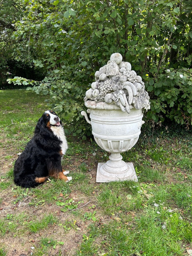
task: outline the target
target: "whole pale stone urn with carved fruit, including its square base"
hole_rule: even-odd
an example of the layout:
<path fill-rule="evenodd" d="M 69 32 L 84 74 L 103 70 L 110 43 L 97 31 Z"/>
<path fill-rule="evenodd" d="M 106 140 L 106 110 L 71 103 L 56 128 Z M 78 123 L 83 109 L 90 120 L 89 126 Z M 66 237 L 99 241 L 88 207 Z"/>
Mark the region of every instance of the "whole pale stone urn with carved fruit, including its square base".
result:
<path fill-rule="evenodd" d="M 106 163 L 98 163 L 97 182 L 137 180 L 132 163 L 125 163 L 120 153 L 131 149 L 139 139 L 143 110 L 150 108 L 142 78 L 122 61 L 120 53 L 111 55 L 107 65 L 95 73 L 95 80 L 84 98 L 90 114 L 87 122 L 100 148 L 110 152 Z"/>

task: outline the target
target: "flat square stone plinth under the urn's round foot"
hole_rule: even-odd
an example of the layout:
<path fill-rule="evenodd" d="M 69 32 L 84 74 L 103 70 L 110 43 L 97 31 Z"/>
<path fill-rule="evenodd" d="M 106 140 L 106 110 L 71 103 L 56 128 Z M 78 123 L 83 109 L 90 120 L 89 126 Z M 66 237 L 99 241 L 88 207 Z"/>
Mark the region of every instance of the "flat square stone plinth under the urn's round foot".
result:
<path fill-rule="evenodd" d="M 106 172 L 106 175 L 101 174 L 99 170 L 103 164 L 105 163 L 98 163 L 96 182 L 111 182 L 111 181 L 124 181 L 124 180 L 132 180 L 136 182 L 138 181 L 133 163 L 126 163 L 129 167 L 128 171 L 124 172 L 123 174 L 121 173 L 119 175 L 118 173 L 109 173 L 109 172 Z"/>

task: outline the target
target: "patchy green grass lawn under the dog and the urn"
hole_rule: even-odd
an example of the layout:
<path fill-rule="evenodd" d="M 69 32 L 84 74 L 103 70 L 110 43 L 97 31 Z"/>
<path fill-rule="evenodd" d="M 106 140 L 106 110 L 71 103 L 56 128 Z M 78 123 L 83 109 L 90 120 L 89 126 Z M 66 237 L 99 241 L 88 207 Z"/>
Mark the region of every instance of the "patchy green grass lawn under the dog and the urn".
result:
<path fill-rule="evenodd" d="M 67 134 L 62 166 L 72 181 L 20 188 L 13 182 L 17 153 L 47 109 L 44 96 L 0 91 L 0 256 L 192 255 L 192 132 L 142 131 L 122 154 L 137 183 L 96 183 L 97 163 L 108 153 Z M 61 116 L 65 128 L 70 118 Z"/>

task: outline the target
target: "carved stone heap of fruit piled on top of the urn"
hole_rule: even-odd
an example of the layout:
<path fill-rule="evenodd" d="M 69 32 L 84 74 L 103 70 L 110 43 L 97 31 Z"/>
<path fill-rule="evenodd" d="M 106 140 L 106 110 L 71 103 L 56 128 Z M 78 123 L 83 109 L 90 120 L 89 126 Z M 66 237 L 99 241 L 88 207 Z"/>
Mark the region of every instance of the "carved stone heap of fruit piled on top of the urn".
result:
<path fill-rule="evenodd" d="M 142 78 L 137 76 L 134 70 L 131 70 L 129 62 L 122 61 L 122 59 L 120 53 L 114 53 L 107 65 L 96 71 L 96 82 L 92 83 L 92 90 L 89 89 L 86 92 L 84 100 L 115 103 L 123 112 L 127 111 L 127 113 L 129 113 L 131 105 L 136 109 L 149 109 L 149 96 L 145 91 Z"/>

